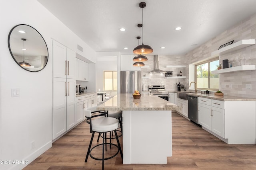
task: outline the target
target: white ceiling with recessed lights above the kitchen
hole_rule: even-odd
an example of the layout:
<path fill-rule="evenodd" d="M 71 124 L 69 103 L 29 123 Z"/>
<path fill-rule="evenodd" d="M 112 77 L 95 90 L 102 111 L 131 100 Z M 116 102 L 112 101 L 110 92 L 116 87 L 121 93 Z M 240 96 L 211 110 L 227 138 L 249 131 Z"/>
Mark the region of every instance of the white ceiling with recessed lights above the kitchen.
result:
<path fill-rule="evenodd" d="M 256 0 L 38 0 L 94 51 L 132 54 L 138 23 L 152 55 L 184 55 L 252 16 Z M 182 27 L 176 31 L 176 27 Z M 126 31 L 119 29 L 124 27 Z M 141 29 L 142 36 L 142 29 Z M 142 39 L 140 41 L 142 44 Z M 221 45 L 221 44 L 220 44 Z M 127 47 L 128 49 L 124 49 Z M 161 49 L 160 47 L 165 47 Z"/>

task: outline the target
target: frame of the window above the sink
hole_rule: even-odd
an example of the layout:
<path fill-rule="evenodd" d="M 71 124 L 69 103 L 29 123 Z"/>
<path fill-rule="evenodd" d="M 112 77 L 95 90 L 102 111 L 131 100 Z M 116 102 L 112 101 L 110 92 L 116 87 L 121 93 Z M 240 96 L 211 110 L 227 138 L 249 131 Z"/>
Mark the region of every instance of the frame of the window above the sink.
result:
<path fill-rule="evenodd" d="M 216 90 L 219 90 L 219 88 L 220 88 L 220 83 L 219 83 L 219 88 L 209 88 L 210 87 L 210 62 L 212 62 L 212 61 L 220 61 L 220 59 L 219 59 L 219 57 L 214 57 L 214 58 L 212 58 L 212 59 L 208 59 L 208 60 L 205 60 L 205 61 L 202 61 L 202 62 L 200 62 L 200 63 L 196 63 L 195 64 L 195 82 L 196 82 L 196 84 L 198 84 L 197 83 L 197 66 L 198 65 L 201 65 L 201 64 L 206 64 L 206 63 L 208 63 L 208 88 L 197 88 L 198 90 L 210 90 L 210 91 L 216 91 Z M 219 77 L 220 78 L 220 77 Z"/>

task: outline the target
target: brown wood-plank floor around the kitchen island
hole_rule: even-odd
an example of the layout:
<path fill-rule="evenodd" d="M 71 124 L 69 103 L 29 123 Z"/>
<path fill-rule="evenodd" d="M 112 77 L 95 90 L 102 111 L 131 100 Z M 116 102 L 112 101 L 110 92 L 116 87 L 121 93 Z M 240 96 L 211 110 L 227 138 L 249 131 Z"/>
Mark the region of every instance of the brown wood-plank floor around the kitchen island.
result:
<path fill-rule="evenodd" d="M 100 160 L 89 157 L 88 162 L 84 162 L 90 137 L 89 125 L 84 121 L 24 170 L 99 170 L 102 168 Z M 122 145 L 122 137 L 119 139 Z M 95 145 L 96 137 L 94 141 Z M 95 151 L 95 154 L 101 153 L 100 149 Z M 256 145 L 228 145 L 172 113 L 172 157 L 167 159 L 167 164 L 122 164 L 118 154 L 105 160 L 104 166 L 105 170 L 255 170 Z"/>

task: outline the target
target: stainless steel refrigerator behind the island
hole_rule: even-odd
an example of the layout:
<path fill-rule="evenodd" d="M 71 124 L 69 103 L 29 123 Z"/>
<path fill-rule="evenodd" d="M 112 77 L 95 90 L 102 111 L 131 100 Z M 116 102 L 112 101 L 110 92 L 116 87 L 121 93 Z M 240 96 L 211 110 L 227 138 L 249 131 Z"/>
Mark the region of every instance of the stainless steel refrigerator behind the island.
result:
<path fill-rule="evenodd" d="M 141 71 L 120 71 L 120 93 L 141 92 Z"/>

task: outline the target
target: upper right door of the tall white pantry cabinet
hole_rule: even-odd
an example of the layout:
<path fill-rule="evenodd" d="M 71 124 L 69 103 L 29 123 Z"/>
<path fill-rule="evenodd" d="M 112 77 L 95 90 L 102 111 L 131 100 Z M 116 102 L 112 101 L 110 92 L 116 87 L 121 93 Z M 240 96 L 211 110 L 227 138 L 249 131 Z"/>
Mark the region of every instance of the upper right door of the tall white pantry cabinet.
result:
<path fill-rule="evenodd" d="M 75 79 L 75 63 L 76 63 L 76 53 L 67 48 L 67 78 Z"/>

